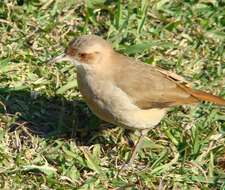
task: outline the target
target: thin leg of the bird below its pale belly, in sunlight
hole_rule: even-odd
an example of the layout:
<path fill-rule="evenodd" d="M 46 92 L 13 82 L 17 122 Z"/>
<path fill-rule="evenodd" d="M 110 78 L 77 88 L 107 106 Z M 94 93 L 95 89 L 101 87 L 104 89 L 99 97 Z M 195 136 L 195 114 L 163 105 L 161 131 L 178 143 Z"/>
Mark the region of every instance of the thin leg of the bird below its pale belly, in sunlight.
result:
<path fill-rule="evenodd" d="M 147 135 L 148 131 L 149 131 L 149 129 L 143 129 L 141 131 L 141 135 L 140 135 L 137 143 L 135 144 L 135 146 L 134 146 L 134 148 L 132 150 L 131 157 L 130 157 L 130 159 L 128 160 L 128 162 L 126 164 L 126 167 L 132 166 L 132 164 L 133 164 L 133 162 L 134 162 L 134 160 L 136 158 L 137 152 L 141 149 L 142 144 L 143 144 L 143 140 L 144 140 L 145 136 Z"/>

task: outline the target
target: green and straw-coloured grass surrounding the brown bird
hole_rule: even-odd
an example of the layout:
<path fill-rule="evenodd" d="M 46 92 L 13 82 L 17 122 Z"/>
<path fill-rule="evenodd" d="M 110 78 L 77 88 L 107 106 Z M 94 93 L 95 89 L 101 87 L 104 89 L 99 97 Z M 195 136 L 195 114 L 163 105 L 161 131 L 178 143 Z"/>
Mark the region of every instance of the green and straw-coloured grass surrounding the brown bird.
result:
<path fill-rule="evenodd" d="M 135 133 L 96 118 L 68 63 L 69 40 L 97 34 L 121 53 L 225 97 L 225 1 L 0 2 L 1 189 L 225 189 L 225 109 L 175 107 L 123 171 Z"/>

